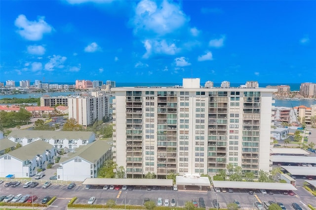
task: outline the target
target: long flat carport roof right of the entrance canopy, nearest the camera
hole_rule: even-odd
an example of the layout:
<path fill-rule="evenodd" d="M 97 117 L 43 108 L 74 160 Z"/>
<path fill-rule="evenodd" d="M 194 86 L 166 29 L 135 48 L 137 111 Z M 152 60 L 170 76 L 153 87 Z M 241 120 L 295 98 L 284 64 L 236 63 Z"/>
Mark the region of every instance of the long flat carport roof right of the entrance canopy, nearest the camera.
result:
<path fill-rule="evenodd" d="M 219 188 L 297 190 L 292 184 L 274 182 L 213 181 L 213 185 Z"/>

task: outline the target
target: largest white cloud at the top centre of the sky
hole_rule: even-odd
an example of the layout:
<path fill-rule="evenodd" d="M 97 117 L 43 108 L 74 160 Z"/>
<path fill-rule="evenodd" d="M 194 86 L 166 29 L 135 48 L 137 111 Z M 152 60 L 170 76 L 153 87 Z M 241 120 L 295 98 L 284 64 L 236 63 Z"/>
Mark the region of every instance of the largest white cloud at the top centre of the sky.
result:
<path fill-rule="evenodd" d="M 189 18 L 184 14 L 178 4 L 167 0 L 158 1 L 142 0 L 137 4 L 135 16 L 131 20 L 134 33 L 153 32 L 165 35 L 181 28 Z"/>

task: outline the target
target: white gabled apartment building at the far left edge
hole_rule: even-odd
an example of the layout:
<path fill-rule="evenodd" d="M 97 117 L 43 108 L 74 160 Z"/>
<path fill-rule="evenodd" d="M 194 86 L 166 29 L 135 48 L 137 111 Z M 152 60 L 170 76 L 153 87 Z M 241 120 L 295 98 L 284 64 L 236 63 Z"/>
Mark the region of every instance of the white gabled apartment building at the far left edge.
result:
<path fill-rule="evenodd" d="M 38 169 L 44 169 L 53 162 L 55 155 L 54 147 L 44 141 L 35 141 L 14 149 L 0 156 L 0 177 L 31 177 L 36 175 Z"/>

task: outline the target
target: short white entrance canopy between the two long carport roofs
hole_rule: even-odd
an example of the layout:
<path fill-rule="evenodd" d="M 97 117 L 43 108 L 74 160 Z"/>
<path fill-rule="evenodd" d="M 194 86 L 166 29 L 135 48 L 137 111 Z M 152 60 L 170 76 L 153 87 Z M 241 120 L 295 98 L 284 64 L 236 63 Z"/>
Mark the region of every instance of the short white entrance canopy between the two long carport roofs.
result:
<path fill-rule="evenodd" d="M 211 186 L 208 177 L 200 177 L 199 175 L 176 176 L 176 184 L 183 185 L 183 189 L 186 189 L 186 186 L 198 186 L 199 190 L 202 190 L 202 186 Z"/>

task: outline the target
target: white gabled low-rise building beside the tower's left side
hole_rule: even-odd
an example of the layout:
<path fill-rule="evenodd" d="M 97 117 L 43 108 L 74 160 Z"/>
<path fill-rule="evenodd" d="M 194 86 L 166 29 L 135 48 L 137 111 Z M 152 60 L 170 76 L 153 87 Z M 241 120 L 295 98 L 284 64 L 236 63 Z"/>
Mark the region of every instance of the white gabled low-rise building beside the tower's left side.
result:
<path fill-rule="evenodd" d="M 76 152 L 68 153 L 60 159 L 57 179 L 83 181 L 86 178 L 96 178 L 103 163 L 111 157 L 111 145 L 105 140 L 80 146 Z"/>

